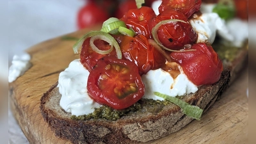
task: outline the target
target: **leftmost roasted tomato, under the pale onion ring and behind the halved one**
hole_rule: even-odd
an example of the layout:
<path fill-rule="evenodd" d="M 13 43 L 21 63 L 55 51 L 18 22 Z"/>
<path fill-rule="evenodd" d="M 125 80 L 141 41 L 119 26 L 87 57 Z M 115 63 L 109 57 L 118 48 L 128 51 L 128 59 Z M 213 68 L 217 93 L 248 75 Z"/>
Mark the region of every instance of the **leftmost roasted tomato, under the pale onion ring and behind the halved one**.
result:
<path fill-rule="evenodd" d="M 92 70 L 92 68 L 96 65 L 97 61 L 108 55 L 108 56 L 116 56 L 116 51 L 113 50 L 109 54 L 99 54 L 92 50 L 92 47 L 90 46 L 90 39 L 87 38 L 84 40 L 81 53 L 80 53 L 80 61 L 83 64 L 85 68 L 89 70 L 89 72 Z M 98 47 L 100 50 L 108 50 L 110 49 L 110 45 L 108 42 L 105 42 L 104 40 L 95 40 L 94 44 L 96 47 Z"/>

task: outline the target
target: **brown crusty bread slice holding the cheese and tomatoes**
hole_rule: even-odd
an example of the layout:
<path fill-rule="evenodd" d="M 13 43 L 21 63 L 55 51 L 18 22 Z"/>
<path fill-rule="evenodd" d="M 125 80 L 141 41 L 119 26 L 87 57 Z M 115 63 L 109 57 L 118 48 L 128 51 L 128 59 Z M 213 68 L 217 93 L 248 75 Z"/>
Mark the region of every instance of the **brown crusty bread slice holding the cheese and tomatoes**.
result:
<path fill-rule="evenodd" d="M 220 81 L 200 86 L 196 93 L 184 95 L 180 99 L 207 111 L 230 85 L 230 81 L 236 79 L 247 56 L 247 49 L 240 49 L 233 61 L 223 60 L 225 70 Z M 150 105 L 146 105 L 141 108 L 143 113 L 132 112 L 118 120 L 72 120 L 71 114 L 60 107 L 61 94 L 57 85 L 52 85 L 42 96 L 41 113 L 56 136 L 72 143 L 145 143 L 179 131 L 193 120 L 172 103 L 162 106 L 157 113 L 148 111 Z"/>

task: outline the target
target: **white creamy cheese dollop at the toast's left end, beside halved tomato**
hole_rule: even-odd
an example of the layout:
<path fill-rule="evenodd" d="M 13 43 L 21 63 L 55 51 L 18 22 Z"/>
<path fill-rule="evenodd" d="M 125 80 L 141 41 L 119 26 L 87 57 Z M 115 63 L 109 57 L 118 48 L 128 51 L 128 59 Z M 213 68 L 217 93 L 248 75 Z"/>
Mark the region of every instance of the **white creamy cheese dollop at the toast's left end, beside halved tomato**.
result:
<path fill-rule="evenodd" d="M 87 92 L 88 70 L 80 60 L 74 60 L 59 76 L 60 106 L 72 115 L 87 115 L 101 105 L 91 99 Z"/>

